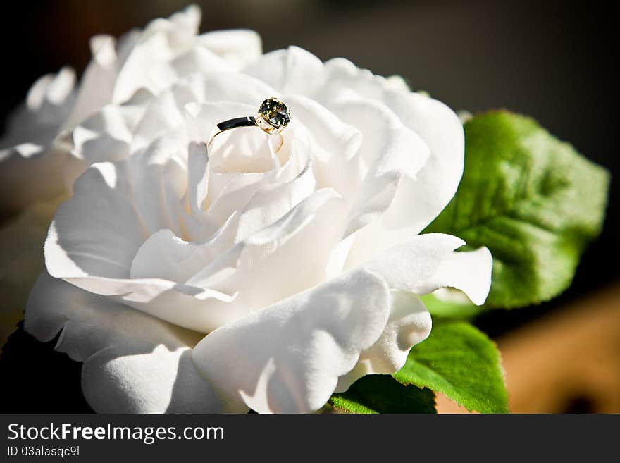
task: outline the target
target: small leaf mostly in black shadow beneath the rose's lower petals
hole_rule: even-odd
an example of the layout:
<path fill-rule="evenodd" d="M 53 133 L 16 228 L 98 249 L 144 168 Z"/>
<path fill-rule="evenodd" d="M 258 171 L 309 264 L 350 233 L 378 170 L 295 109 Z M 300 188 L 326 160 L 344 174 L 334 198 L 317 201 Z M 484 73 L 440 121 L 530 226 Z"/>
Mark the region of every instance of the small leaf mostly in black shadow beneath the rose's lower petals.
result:
<path fill-rule="evenodd" d="M 432 390 L 402 385 L 390 375 L 363 376 L 331 402 L 349 413 L 436 413 Z"/>

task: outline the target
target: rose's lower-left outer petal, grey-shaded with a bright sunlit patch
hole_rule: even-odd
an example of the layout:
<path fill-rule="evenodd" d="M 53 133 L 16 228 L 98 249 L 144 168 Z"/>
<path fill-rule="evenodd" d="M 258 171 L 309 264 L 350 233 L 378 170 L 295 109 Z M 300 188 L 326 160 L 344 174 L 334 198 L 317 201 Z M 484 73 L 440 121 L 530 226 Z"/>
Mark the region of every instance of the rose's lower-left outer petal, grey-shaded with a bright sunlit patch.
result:
<path fill-rule="evenodd" d="M 191 361 L 202 338 L 182 328 L 92 295 L 46 273 L 32 289 L 25 329 L 82 367 L 82 390 L 97 412 L 243 411 L 223 402 Z"/>

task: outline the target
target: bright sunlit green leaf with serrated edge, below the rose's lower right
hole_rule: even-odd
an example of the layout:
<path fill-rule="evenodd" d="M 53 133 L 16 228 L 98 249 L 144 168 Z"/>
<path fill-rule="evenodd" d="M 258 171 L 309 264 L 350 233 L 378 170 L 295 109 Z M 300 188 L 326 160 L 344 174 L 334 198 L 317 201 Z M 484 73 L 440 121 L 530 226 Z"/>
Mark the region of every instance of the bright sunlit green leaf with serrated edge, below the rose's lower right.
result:
<path fill-rule="evenodd" d="M 500 354 L 484 333 L 463 321 L 435 324 L 394 377 L 444 393 L 469 410 L 508 412 Z"/>

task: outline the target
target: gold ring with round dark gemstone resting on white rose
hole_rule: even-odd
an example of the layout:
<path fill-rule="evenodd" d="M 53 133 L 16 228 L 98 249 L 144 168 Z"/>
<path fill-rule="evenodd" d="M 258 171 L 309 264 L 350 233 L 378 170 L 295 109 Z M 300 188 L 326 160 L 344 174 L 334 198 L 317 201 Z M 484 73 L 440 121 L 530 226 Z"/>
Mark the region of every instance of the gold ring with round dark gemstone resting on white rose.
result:
<path fill-rule="evenodd" d="M 258 127 L 269 135 L 280 135 L 280 144 L 275 149 L 277 153 L 284 144 L 282 130 L 290 123 L 290 111 L 286 105 L 277 98 L 268 98 L 259 107 L 254 116 L 228 119 L 218 123 L 218 132 L 215 132 L 206 146 L 209 147 L 213 139 L 221 133 L 239 127 Z"/>

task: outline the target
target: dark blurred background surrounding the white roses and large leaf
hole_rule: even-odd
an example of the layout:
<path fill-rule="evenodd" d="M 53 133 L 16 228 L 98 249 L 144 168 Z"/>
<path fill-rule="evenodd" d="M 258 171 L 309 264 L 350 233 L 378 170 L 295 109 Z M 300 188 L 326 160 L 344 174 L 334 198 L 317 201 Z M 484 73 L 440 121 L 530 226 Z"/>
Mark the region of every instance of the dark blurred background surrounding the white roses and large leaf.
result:
<path fill-rule="evenodd" d="M 265 51 L 299 45 L 319 58 L 345 56 L 381 75 L 400 74 L 454 110 L 525 113 L 612 172 L 607 222 L 574 285 L 542 306 L 477 320 L 495 337 L 620 280 L 618 73 L 614 17 L 604 4 L 569 1 L 197 1 L 202 31 L 247 27 Z M 10 10 L 7 10 L 10 5 Z M 120 35 L 168 16 L 180 0 L 4 2 L 0 123 L 40 75 L 81 72 L 88 38 Z M 80 366 L 18 331 L 0 362 L 0 411 L 81 412 Z"/>

